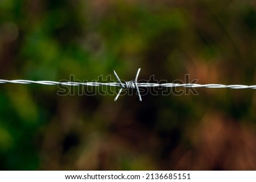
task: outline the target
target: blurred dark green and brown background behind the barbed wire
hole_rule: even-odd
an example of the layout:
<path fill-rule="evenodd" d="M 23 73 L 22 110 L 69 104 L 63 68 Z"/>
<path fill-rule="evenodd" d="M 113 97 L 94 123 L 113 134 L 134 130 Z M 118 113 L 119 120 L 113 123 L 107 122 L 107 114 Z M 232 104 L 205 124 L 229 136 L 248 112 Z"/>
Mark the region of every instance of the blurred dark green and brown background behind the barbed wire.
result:
<path fill-rule="evenodd" d="M 0 1 L 1 79 L 250 85 L 255 66 L 254 0 Z M 71 89 L 0 84 L 1 170 L 256 170 L 255 90 Z"/>

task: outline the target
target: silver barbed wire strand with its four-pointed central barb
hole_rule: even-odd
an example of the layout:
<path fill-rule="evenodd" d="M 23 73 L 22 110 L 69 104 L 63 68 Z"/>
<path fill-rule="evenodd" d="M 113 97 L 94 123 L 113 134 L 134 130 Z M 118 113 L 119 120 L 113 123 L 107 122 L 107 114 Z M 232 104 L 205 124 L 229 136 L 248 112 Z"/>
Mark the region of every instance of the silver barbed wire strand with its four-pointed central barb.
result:
<path fill-rule="evenodd" d="M 138 76 L 141 69 L 139 68 L 136 74 L 136 77 L 133 81 L 125 81 L 122 83 L 121 79 L 119 79 L 117 73 L 114 71 L 114 75 L 117 78 L 118 82 L 110 82 L 110 83 L 100 83 L 100 82 L 55 82 L 55 81 L 30 81 L 25 79 L 15 79 L 15 80 L 6 80 L 0 79 L 1 83 L 16 83 L 16 84 L 44 84 L 44 85 L 64 85 L 64 86 L 111 86 L 111 87 L 121 87 L 117 96 L 114 100 L 117 100 L 119 95 L 121 94 L 123 89 L 133 88 L 138 92 L 139 100 L 142 101 L 141 93 L 139 92 L 139 87 L 189 87 L 189 88 L 233 88 L 233 89 L 243 89 L 243 88 L 251 88 L 256 89 L 256 85 L 243 85 L 243 84 L 197 84 L 197 83 L 138 83 Z"/>

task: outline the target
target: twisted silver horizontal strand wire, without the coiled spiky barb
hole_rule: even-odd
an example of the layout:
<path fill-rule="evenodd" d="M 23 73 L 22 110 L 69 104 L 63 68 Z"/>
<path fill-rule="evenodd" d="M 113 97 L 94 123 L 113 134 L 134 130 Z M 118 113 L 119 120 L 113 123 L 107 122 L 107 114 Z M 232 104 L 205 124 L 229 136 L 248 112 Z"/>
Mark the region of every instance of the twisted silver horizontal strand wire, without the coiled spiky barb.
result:
<path fill-rule="evenodd" d="M 65 86 L 113 86 L 113 87 L 123 87 L 125 86 L 124 83 L 118 83 L 118 82 L 110 82 L 110 83 L 100 83 L 100 82 L 55 82 L 55 81 L 30 81 L 30 80 L 24 80 L 24 79 L 15 79 L 15 80 L 6 80 L 6 79 L 0 79 L 1 83 L 16 83 L 16 84 L 45 84 L 45 85 L 65 85 Z M 132 86 L 135 86 L 134 83 L 132 83 Z M 234 89 L 242 89 L 242 88 L 251 88 L 256 89 L 256 85 L 243 85 L 243 84 L 196 84 L 196 83 L 138 83 L 138 87 L 193 87 L 193 88 L 234 88 Z"/>

